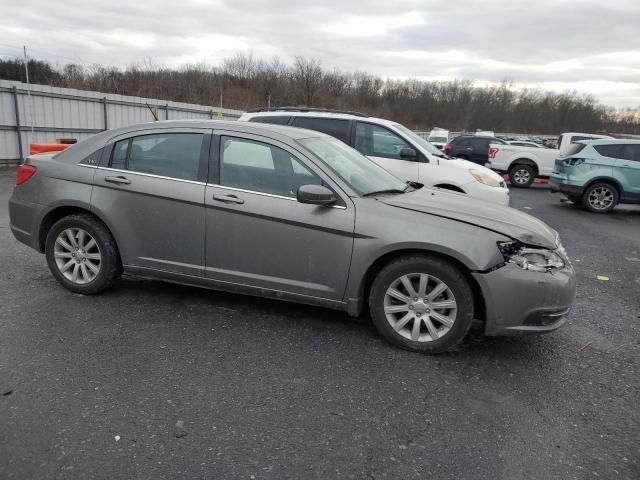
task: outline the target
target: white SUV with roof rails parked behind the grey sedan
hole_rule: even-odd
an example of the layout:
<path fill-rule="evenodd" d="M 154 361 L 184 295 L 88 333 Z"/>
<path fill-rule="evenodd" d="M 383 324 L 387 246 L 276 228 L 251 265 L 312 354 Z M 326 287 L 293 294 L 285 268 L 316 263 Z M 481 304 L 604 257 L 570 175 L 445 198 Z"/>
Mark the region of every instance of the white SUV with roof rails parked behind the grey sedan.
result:
<path fill-rule="evenodd" d="M 249 110 L 239 121 L 290 125 L 336 137 L 404 181 L 509 205 L 504 179 L 467 160 L 447 157 L 408 128 L 357 112 L 307 108 Z"/>

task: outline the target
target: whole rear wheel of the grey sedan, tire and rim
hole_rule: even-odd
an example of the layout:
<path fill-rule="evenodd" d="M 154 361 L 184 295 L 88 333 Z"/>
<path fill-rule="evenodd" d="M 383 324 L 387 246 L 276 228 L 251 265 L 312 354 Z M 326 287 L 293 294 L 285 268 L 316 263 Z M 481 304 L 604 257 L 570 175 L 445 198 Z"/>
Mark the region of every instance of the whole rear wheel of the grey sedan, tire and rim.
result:
<path fill-rule="evenodd" d="M 45 255 L 56 280 L 75 293 L 100 293 L 122 273 L 113 236 L 88 214 L 69 215 L 54 223 L 47 232 Z"/>

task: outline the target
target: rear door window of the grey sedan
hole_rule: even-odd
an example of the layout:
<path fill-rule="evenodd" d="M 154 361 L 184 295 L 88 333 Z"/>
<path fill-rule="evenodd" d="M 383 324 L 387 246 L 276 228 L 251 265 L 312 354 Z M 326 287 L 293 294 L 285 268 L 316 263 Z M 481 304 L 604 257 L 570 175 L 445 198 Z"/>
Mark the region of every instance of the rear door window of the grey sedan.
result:
<path fill-rule="evenodd" d="M 201 133 L 162 133 L 121 140 L 113 147 L 112 168 L 182 180 L 198 180 Z"/>

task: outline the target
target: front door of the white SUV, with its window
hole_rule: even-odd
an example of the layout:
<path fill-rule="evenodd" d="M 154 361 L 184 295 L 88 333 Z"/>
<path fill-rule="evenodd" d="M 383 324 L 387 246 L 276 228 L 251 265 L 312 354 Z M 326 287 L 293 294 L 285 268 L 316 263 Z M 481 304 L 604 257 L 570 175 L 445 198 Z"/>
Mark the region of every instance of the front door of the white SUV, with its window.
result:
<path fill-rule="evenodd" d="M 403 181 L 420 181 L 420 155 L 413 159 L 402 158 L 403 148 L 419 152 L 413 145 L 395 132 L 381 125 L 356 122 L 354 148 Z"/>

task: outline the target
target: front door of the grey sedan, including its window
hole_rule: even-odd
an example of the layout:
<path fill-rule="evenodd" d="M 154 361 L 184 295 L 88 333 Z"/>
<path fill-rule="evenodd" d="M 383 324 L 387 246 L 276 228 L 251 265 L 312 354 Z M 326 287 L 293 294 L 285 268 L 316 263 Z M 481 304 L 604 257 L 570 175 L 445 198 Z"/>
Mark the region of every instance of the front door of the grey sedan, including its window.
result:
<path fill-rule="evenodd" d="M 220 132 L 206 205 L 206 276 L 211 280 L 341 301 L 355 207 L 298 150 L 250 134 Z M 324 184 L 334 206 L 302 204 L 298 187 Z"/>

